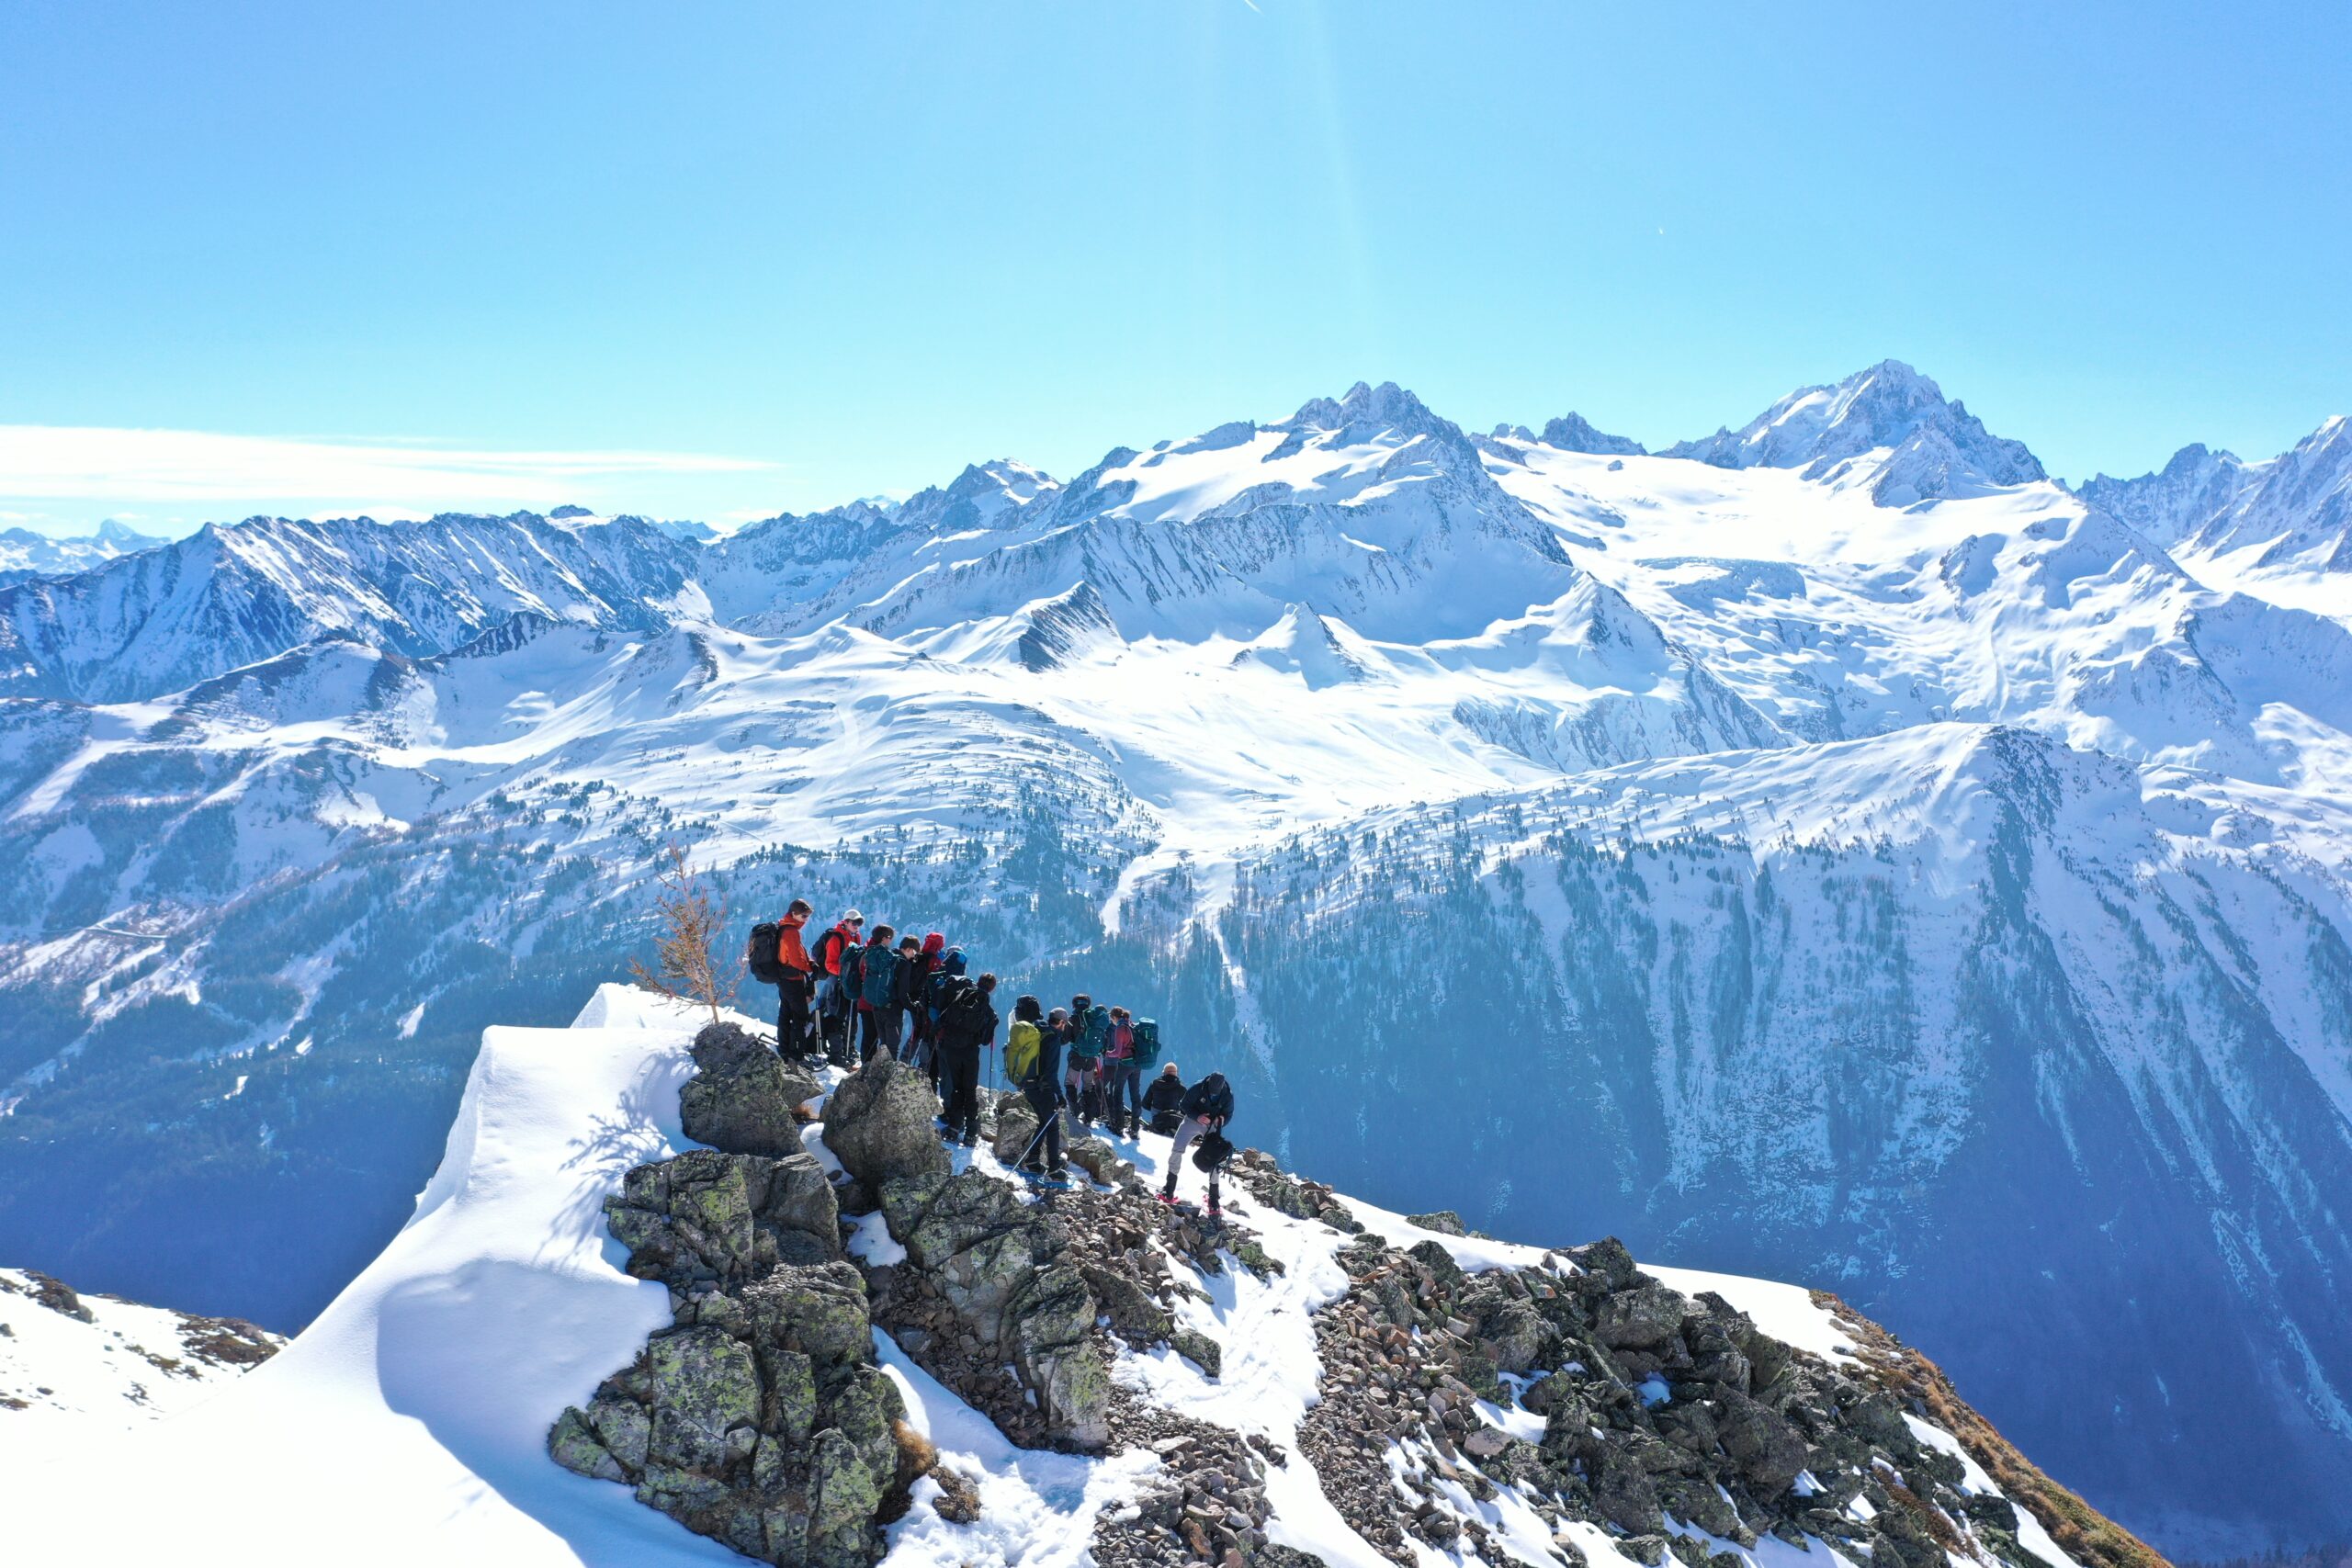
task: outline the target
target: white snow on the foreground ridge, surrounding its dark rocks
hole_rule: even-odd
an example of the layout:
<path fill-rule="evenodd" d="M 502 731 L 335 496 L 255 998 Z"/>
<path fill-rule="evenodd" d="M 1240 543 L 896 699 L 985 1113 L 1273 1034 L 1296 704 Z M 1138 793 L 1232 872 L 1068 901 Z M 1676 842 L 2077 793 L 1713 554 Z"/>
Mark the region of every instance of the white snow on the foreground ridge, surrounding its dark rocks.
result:
<path fill-rule="evenodd" d="M 263 1568 L 322 1556 L 506 1566 L 743 1561 L 640 1507 L 628 1488 L 567 1474 L 548 1458 L 557 1415 L 586 1403 L 609 1368 L 630 1363 L 640 1345 L 670 1324 L 673 1295 L 621 1269 L 623 1251 L 604 1234 L 604 1199 L 621 1192 L 633 1166 L 684 1147 L 677 1091 L 694 1072 L 694 1027 L 673 1004 L 607 985 L 569 1030 L 489 1030 L 442 1164 L 390 1246 L 285 1354 L 219 1399 L 127 1432 L 101 1455 L 49 1467 L 21 1458 L 12 1467 L 12 1552 L 89 1556 L 92 1521 L 106 1519 L 111 1561 L 235 1559 Z M 823 1124 L 807 1128 L 811 1150 L 823 1150 L 821 1131 Z M 1164 1140 L 1145 1138 L 1127 1152 L 1152 1175 Z M 1011 1180 L 985 1152 L 962 1159 Z M 1449 1267 L 1472 1276 L 1501 1269 L 1550 1279 L 1555 1284 L 1541 1288 L 1555 1288 L 1576 1272 L 1543 1248 L 1425 1229 L 1369 1204 L 1345 1201 L 1345 1208 L 1350 1227 L 1397 1248 L 1435 1246 Z M 856 1246 L 870 1262 L 889 1262 L 894 1248 L 903 1260 L 880 1222 L 875 1213 L 858 1225 Z M 887 1561 L 943 1568 L 1096 1561 L 1101 1530 L 1150 1528 L 1134 1523 L 1136 1502 L 1181 1462 L 1183 1441 L 1155 1441 L 1164 1427 L 1150 1413 L 1160 1410 L 1157 1420 L 1176 1418 L 1192 1432 L 1228 1429 L 1254 1439 L 1272 1462 L 1263 1535 L 1277 1547 L 1334 1568 L 1390 1563 L 1359 1535 L 1367 1505 L 1341 1505 L 1327 1493 L 1327 1476 L 1310 1458 L 1317 1443 L 1305 1434 L 1327 1396 L 1362 1396 L 1371 1387 L 1352 1382 L 1327 1359 L 1329 1340 L 1319 1342 L 1317 1319 L 1352 1284 L 1338 1260 L 1348 1237 L 1329 1222 L 1261 1206 L 1249 1213 L 1249 1234 L 1263 1248 L 1251 1253 L 1258 1262 L 1244 1267 L 1228 1253 L 1218 1272 L 1197 1276 L 1204 1286 L 1197 1300 L 1183 1302 L 1190 1333 L 1223 1345 L 1218 1373 L 1204 1375 L 1171 1349 L 1120 1347 L 1112 1380 L 1127 1403 L 1098 1455 L 1016 1448 L 877 1328 L 875 1354 L 908 1425 L 976 1497 L 976 1519 L 957 1516 L 938 1483 L 917 1483 L 906 1516 L 889 1523 Z M 1192 1265 L 1171 1258 L 1183 1279 L 1195 1276 Z M 1663 1269 L 1661 1279 L 1691 1295 L 1717 1293 L 1726 1312 L 1743 1312 L 1766 1335 L 1825 1366 L 1860 1366 L 1856 1345 L 1865 1342 L 1858 1335 L 1870 1333 L 1867 1326 L 1835 1316 L 1825 1298 L 1686 1269 Z M 1651 1378 L 1658 1392 L 1642 1399 L 1665 1403 L 1668 1382 Z M 1442 1401 L 1444 1389 L 1435 1399 Z M 1451 1460 L 1437 1448 L 1421 1453 L 1425 1441 L 1392 1441 L 1395 1495 L 1371 1505 L 1374 1519 L 1409 1523 L 1423 1540 L 1456 1540 L 1458 1554 L 1423 1552 L 1416 1561 L 1545 1568 L 1642 1561 L 1630 1554 L 1639 1542 L 1588 1519 L 1562 1519 L 1536 1486 L 1484 1481 L 1479 1465 L 1505 1455 L 1508 1441 L 1517 1439 L 1522 1453 L 1534 1453 L 1538 1439 L 1550 1441 L 1541 1415 L 1519 1408 L 1512 1394 L 1505 1399 L 1510 1408 L 1479 1406 L 1479 1420 L 1470 1422 L 1472 1432 L 1491 1425 L 1494 1436 L 1461 1450 L 1432 1422 L 1437 1436 L 1425 1441 L 1444 1441 Z M 2030 1509 L 2002 1500 L 1962 1434 L 1919 1413 L 1910 1422 L 1917 1439 L 1903 1443 L 1924 1455 L 1922 1465 L 1933 1460 L 1938 1472 L 1947 1465 L 1952 1495 L 1971 1497 L 1969 1509 L 1945 1523 L 1964 1530 L 1955 1537 L 1957 1561 L 1987 1568 L 2032 1561 L 2013 1556 L 2016 1547 L 2009 1559 L 1997 1556 L 1987 1523 L 2006 1521 L 1999 1540 L 2013 1537 L 2051 1568 L 2077 1568 Z M 1966 1436 L 1983 1441 L 1976 1432 Z M 235 1483 L 223 1483 L 223 1465 Z M 1828 1450 L 1816 1465 L 1828 1474 Z M 1416 1519 L 1421 1474 L 1446 1481 L 1428 1493 Z M 1900 1486 L 1893 1472 L 1886 1479 Z M 1910 1486 L 1931 1493 L 1926 1474 L 1915 1474 Z M 108 1507 L 125 1488 L 136 1490 L 141 1507 Z M 1806 1479 L 1799 1479 L 1795 1493 L 1804 1490 Z M 1856 1500 L 1837 1521 L 1867 1533 L 1870 1516 L 1870 1502 Z M 1449 1521 L 1444 1530 L 1435 1519 Z M 1750 1568 L 1853 1561 L 1820 1540 L 1788 1544 L 1750 1533 L 1750 1544 L 1738 1547 L 1684 1521 L 1670 1521 L 1670 1530 L 1708 1549 L 1731 1549 Z"/>

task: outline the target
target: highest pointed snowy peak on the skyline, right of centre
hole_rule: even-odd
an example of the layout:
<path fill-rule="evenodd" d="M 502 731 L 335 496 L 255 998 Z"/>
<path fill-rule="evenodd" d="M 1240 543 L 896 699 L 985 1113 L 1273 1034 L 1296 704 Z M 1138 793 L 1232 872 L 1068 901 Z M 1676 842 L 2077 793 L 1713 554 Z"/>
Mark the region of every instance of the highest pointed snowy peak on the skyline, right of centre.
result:
<path fill-rule="evenodd" d="M 1844 381 L 1804 386 L 1738 430 L 1717 430 L 1668 447 L 1663 456 L 1698 458 L 1715 468 L 1802 468 L 1828 477 L 1832 468 L 1870 451 L 1889 451 L 1875 484 L 1882 503 L 1952 494 L 1966 482 L 2030 484 L 2046 480 L 2023 442 L 1985 430 L 1957 397 L 1903 360 L 1879 360 Z"/>

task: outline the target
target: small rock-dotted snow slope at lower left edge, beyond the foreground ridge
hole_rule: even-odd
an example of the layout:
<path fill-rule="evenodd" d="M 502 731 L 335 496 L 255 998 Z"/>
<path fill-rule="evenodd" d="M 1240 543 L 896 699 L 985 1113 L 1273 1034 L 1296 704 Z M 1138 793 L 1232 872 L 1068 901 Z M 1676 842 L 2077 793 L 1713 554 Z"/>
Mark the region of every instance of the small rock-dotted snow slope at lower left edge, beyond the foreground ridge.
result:
<path fill-rule="evenodd" d="M 0 1269 L 0 1474 L 21 1483 L 35 1462 L 99 1465 L 111 1439 L 202 1403 L 282 1345 L 238 1319 Z"/>

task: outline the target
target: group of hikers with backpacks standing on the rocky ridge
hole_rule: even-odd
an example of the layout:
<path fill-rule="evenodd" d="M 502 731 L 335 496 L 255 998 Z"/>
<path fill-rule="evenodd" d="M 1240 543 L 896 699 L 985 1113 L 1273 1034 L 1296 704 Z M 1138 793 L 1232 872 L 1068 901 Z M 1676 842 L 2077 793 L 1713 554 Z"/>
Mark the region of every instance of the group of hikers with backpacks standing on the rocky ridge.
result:
<path fill-rule="evenodd" d="M 969 973 L 964 950 L 938 931 L 922 938 L 884 924 L 868 931 L 858 910 L 811 943 L 814 912 L 807 898 L 795 898 L 783 919 L 750 933 L 750 976 L 776 987 L 776 1053 L 844 1070 L 887 1056 L 929 1072 L 941 1138 L 974 1147 L 981 1053 L 995 1051 L 1002 1027 L 997 978 Z M 1174 1138 L 1160 1201 L 1176 1201 L 1176 1173 L 1190 1152 L 1209 1178 L 1207 1213 L 1223 1213 L 1216 1175 L 1232 1154 L 1225 1140 L 1232 1086 L 1221 1072 L 1185 1084 L 1176 1063 L 1160 1060 L 1160 1025 L 1150 1018 L 1084 992 L 1051 1011 L 1037 997 L 1018 997 L 1004 1034 L 1004 1077 L 1037 1114 L 1037 1135 L 1016 1161 L 1023 1175 L 1068 1180 L 1063 1112 L 1112 1138 L 1141 1138 L 1150 1126 Z"/>

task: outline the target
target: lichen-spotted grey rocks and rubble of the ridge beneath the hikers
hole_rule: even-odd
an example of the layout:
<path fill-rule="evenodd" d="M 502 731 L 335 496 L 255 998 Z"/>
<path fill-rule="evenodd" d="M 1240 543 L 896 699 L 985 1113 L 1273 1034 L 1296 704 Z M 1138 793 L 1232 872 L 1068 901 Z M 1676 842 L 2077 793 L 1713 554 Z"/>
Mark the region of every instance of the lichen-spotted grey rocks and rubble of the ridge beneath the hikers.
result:
<path fill-rule="evenodd" d="M 1157 1138 L 1080 1138 L 1073 1185 L 1030 1190 L 1014 1095 L 988 1095 L 993 1145 L 950 1154 L 913 1067 L 818 1081 L 727 1023 L 694 1065 L 710 1147 L 604 1204 L 670 1324 L 548 1453 L 743 1556 L 863 1568 L 917 1516 L 971 1533 L 967 1561 L 997 1549 L 985 1462 L 910 1420 L 920 1375 L 1007 1453 L 1122 1476 L 1089 1523 L 1103 1566 L 2161 1561 L 1835 1298 L 1757 1298 L 1797 1345 L 1726 1293 L 1755 1281 L 1385 1215 L 1261 1150 L 1221 1220 L 1138 1175 Z"/>

